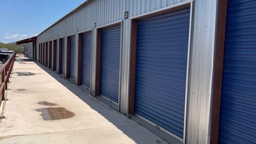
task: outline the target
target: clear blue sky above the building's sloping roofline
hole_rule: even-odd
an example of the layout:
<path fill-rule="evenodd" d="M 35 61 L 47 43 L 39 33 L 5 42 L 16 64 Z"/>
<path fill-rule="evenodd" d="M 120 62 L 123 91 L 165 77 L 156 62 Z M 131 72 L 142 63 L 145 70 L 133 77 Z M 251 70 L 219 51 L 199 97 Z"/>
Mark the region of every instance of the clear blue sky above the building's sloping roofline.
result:
<path fill-rule="evenodd" d="M 85 0 L 1 0 L 0 42 L 41 33 Z"/>

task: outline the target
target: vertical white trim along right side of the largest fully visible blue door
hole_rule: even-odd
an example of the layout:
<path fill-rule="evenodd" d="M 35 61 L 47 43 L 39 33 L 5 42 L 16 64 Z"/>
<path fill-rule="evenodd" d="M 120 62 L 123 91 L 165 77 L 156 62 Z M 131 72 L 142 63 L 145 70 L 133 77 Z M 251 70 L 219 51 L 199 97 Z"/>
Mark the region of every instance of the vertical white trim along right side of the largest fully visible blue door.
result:
<path fill-rule="evenodd" d="M 193 2 L 190 3 L 190 28 L 188 33 L 188 52 L 187 52 L 187 76 L 186 76 L 186 93 L 185 93 L 185 111 L 184 111 L 184 129 L 183 129 L 183 143 L 186 142 L 186 126 L 187 126 L 187 97 L 188 97 L 188 87 L 190 80 L 190 55 L 191 55 L 191 39 L 192 39 L 192 16 L 193 16 Z"/>

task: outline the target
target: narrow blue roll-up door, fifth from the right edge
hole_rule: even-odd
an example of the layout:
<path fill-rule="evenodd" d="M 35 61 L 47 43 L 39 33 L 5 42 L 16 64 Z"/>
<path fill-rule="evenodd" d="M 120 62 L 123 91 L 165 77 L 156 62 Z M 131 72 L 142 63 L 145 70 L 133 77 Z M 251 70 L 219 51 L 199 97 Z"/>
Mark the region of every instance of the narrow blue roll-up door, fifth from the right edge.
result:
<path fill-rule="evenodd" d="M 70 79 L 75 78 L 75 36 L 70 36 Z"/>

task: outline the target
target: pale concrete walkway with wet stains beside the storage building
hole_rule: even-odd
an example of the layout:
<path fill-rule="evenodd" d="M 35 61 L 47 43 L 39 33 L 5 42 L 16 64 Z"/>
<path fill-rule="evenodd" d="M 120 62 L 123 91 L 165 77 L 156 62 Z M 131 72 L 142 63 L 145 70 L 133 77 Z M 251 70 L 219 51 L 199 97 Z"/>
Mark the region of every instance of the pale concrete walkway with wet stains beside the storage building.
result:
<path fill-rule="evenodd" d="M 9 88 L 0 143 L 167 143 L 35 62 L 16 61 Z"/>

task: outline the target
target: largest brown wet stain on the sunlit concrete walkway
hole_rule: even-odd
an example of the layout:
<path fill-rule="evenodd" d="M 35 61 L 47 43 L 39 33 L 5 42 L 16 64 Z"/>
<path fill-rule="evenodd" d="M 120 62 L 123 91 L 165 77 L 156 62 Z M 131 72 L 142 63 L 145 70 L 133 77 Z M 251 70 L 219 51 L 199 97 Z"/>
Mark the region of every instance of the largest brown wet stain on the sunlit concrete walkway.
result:
<path fill-rule="evenodd" d="M 40 115 L 45 121 L 63 120 L 75 116 L 74 112 L 65 108 L 41 108 L 36 109 L 36 111 L 41 112 Z"/>

